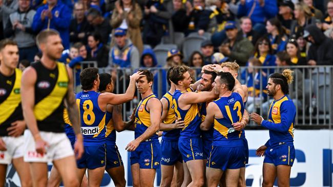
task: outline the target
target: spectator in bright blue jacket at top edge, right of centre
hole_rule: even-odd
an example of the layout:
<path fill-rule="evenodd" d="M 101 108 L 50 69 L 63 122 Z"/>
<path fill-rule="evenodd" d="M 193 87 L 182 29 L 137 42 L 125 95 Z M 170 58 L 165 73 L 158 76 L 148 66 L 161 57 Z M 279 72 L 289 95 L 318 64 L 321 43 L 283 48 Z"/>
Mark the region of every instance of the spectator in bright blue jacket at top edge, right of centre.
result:
<path fill-rule="evenodd" d="M 238 16 L 251 18 L 253 29 L 260 34 L 265 33 L 265 20 L 278 14 L 276 0 L 240 0 Z"/>

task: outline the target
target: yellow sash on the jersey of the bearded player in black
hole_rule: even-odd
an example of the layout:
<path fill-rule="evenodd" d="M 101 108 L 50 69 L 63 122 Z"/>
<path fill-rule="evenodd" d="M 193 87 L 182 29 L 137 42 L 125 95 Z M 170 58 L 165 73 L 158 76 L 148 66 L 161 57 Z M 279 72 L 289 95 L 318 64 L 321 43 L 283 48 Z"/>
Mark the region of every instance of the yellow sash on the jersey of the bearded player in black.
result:
<path fill-rule="evenodd" d="M 43 121 L 59 107 L 68 90 L 69 79 L 65 64 L 57 62 L 58 79 L 50 95 L 39 101 L 34 107 L 36 120 Z"/>

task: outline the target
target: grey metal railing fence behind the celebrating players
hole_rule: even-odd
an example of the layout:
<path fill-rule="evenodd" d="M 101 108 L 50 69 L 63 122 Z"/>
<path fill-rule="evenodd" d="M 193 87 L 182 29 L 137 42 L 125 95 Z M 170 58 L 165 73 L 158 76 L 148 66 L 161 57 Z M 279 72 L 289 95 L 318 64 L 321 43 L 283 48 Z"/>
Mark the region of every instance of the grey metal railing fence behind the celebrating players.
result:
<path fill-rule="evenodd" d="M 89 64 L 90 62 L 85 62 Z M 81 65 L 81 68 L 85 68 Z M 282 73 L 283 69 L 289 68 L 294 71 L 294 83 L 289 85 L 289 97 L 293 100 L 296 109 L 296 126 L 316 126 L 318 128 L 330 128 L 333 123 L 333 66 L 255 66 L 253 69 L 241 67 L 238 72 L 238 79 L 242 84 L 255 85 L 257 89 L 249 89 L 246 109 L 249 112 L 257 112 L 267 118 L 269 105 L 272 98 L 265 95 L 268 73 Z M 166 82 L 165 75 L 167 68 L 149 68 L 154 74 L 154 93 L 161 98 L 170 89 Z M 192 74 L 195 80 L 200 79 L 200 67 L 192 67 Z M 249 72 L 250 70 L 250 72 Z M 252 71 L 251 71 L 252 70 Z M 115 83 L 114 93 L 126 91 L 129 83 L 129 76 L 136 71 L 134 68 L 99 68 L 100 73 L 112 73 Z M 245 79 L 241 79 L 241 77 Z M 249 77 L 256 77 L 249 82 Z M 75 77 L 75 76 L 74 76 Z M 126 120 L 140 101 L 139 92 L 135 98 L 123 104 L 123 118 Z M 251 101 L 250 101 L 251 100 Z M 254 125 L 253 123 L 249 126 Z"/>

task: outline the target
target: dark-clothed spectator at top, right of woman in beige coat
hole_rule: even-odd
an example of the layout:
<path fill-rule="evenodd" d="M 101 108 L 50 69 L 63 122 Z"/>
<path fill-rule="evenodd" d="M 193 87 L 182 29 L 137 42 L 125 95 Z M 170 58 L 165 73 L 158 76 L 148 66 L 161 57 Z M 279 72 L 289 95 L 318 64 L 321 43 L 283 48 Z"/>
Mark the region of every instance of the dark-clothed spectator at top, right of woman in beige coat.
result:
<path fill-rule="evenodd" d="M 171 12 L 159 0 L 149 0 L 144 6 L 143 43 L 154 48 L 168 32 Z"/>

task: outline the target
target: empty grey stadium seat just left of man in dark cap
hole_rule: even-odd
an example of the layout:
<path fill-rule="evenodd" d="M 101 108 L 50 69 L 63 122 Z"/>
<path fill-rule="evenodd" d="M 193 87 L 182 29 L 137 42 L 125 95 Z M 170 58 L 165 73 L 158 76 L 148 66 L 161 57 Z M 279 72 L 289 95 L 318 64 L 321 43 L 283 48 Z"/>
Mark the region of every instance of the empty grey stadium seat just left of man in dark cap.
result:
<path fill-rule="evenodd" d="M 188 61 L 189 57 L 194 51 L 200 51 L 201 42 L 204 41 L 205 38 L 202 36 L 188 36 L 185 38 L 183 43 L 183 61 Z"/>

